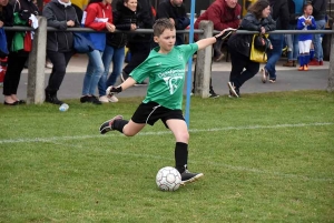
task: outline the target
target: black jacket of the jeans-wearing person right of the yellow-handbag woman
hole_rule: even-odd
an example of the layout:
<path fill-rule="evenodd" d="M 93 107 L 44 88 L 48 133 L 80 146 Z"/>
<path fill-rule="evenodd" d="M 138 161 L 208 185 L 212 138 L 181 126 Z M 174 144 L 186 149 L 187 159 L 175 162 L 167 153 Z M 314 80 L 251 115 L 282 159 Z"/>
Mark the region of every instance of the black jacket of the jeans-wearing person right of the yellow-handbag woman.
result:
<path fill-rule="evenodd" d="M 272 17 L 276 21 L 276 30 L 288 30 L 289 12 L 287 0 L 271 0 Z"/>

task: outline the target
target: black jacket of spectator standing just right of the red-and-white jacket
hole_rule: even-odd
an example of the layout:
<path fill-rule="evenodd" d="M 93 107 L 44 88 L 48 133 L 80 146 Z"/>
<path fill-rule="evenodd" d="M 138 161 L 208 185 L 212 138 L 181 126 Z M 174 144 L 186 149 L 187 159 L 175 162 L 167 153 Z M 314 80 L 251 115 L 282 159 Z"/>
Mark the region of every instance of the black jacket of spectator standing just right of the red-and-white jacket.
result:
<path fill-rule="evenodd" d="M 138 7 L 137 7 L 138 9 Z M 112 12 L 112 23 L 117 30 L 127 30 L 131 29 L 131 23 L 137 24 L 137 13 L 131 11 L 129 8 L 124 6 L 124 0 L 119 0 L 116 3 L 116 10 Z M 138 27 L 139 24 L 137 24 Z M 129 33 L 107 33 L 107 44 L 114 48 L 122 48 L 128 42 Z"/>

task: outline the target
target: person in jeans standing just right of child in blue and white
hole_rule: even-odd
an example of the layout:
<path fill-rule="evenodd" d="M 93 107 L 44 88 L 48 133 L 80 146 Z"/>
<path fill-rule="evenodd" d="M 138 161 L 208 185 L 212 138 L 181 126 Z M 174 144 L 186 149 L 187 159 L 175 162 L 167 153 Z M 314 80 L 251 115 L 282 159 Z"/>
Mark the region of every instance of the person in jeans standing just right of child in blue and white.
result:
<path fill-rule="evenodd" d="M 313 17 L 316 23 L 316 30 L 324 30 L 326 26 L 326 11 L 327 0 L 313 0 Z M 322 45 L 322 34 L 317 33 L 313 36 L 314 44 L 314 59 L 308 63 L 310 65 L 323 65 L 324 64 L 324 52 Z"/>

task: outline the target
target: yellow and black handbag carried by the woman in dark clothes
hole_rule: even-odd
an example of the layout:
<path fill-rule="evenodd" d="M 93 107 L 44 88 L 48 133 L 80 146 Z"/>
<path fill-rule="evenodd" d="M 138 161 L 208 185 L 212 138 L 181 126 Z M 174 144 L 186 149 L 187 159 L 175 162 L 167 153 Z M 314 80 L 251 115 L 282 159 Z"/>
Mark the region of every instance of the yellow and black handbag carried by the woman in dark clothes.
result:
<path fill-rule="evenodd" d="M 265 36 L 254 34 L 249 60 L 257 63 L 267 62 L 267 50 L 272 48 L 271 44 L 271 41 Z"/>

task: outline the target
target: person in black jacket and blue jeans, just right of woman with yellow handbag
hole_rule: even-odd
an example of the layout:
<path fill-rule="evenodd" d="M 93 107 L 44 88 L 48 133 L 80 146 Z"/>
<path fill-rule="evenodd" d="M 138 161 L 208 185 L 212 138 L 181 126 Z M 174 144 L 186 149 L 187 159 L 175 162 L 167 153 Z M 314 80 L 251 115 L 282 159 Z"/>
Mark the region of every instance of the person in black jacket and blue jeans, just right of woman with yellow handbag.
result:
<path fill-rule="evenodd" d="M 276 21 L 276 30 L 288 29 L 288 8 L 287 0 L 269 0 L 272 8 L 272 18 Z M 269 77 L 269 82 L 276 82 L 276 62 L 282 55 L 283 48 L 283 34 L 269 34 L 269 40 L 273 45 L 273 50 L 268 51 L 268 61 L 264 69 L 262 69 L 262 82 L 265 83 Z"/>

